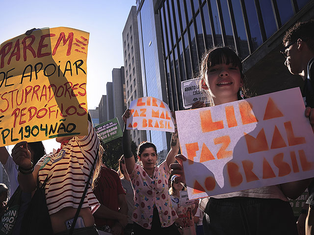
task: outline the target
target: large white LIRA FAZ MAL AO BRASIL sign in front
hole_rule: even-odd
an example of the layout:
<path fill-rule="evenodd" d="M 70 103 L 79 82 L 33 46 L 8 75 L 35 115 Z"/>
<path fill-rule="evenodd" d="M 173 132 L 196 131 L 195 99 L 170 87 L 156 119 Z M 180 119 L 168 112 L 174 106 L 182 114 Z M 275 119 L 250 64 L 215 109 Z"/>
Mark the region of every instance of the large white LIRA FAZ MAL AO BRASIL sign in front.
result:
<path fill-rule="evenodd" d="M 304 111 L 294 88 L 176 112 L 189 199 L 313 177 Z"/>

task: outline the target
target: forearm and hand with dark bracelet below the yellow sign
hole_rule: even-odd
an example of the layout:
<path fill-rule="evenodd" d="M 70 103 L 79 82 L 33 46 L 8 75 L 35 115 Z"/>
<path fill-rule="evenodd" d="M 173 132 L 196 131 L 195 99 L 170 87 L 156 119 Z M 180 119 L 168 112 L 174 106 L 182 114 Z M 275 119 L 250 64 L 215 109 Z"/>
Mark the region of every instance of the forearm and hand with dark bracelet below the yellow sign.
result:
<path fill-rule="evenodd" d="M 11 154 L 15 164 L 19 166 L 18 180 L 20 187 L 25 192 L 32 192 L 37 185 L 37 177 L 40 165 L 34 167 L 33 162 L 30 160 L 30 152 L 27 148 L 27 142 L 22 141 L 17 143 Z"/>

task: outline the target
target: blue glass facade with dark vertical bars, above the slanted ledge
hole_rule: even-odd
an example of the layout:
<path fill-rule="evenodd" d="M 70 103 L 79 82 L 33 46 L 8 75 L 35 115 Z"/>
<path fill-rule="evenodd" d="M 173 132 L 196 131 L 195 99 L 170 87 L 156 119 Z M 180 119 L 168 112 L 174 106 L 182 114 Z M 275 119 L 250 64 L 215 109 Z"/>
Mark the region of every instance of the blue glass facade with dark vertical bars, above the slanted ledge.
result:
<path fill-rule="evenodd" d="M 170 109 L 183 109 L 181 81 L 197 77 L 205 48 L 230 46 L 245 60 L 310 2 L 312 0 L 157 1 L 155 14 L 161 26 Z M 143 14 L 147 19 L 154 16 L 152 10 Z M 149 47 L 148 42 L 143 45 Z"/>

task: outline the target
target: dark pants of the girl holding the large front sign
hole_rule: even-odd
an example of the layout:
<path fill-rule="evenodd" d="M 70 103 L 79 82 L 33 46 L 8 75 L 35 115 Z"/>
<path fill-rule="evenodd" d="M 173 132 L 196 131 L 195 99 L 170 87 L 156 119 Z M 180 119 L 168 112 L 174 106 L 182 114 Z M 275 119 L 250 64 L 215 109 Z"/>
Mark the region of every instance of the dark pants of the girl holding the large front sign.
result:
<path fill-rule="evenodd" d="M 291 206 L 280 199 L 209 198 L 204 212 L 208 235 L 298 235 Z"/>

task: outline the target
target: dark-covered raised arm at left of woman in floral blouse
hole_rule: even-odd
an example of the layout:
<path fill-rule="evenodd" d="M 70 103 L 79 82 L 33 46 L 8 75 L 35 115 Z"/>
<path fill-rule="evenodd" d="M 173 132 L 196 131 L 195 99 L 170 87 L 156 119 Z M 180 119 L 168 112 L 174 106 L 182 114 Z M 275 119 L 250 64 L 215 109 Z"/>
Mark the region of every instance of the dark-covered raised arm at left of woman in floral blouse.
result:
<path fill-rule="evenodd" d="M 130 134 L 130 130 L 127 130 L 127 119 L 130 118 L 130 116 L 131 116 L 130 109 L 127 109 L 126 112 L 124 112 L 124 114 L 122 115 L 122 119 L 124 121 L 122 150 L 123 150 L 124 160 L 126 163 L 126 169 L 129 175 L 132 173 L 134 169 L 134 165 L 135 165 L 135 159 L 131 151 L 131 134 Z"/>

